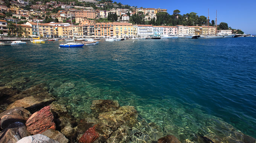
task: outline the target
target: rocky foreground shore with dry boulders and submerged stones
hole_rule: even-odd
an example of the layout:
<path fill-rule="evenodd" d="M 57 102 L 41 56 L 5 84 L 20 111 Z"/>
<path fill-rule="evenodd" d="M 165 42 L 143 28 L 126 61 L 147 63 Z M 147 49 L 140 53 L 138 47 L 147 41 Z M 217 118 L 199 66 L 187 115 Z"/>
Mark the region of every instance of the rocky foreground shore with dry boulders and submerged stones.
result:
<path fill-rule="evenodd" d="M 84 113 L 81 119 L 73 117 L 46 85 L 26 90 L 22 85 L 0 87 L 0 143 L 180 143 L 179 137 L 147 123 L 134 106 L 120 106 L 117 100 L 93 100 L 91 113 Z M 181 141 L 256 143 L 253 137 L 235 133 L 235 137 L 226 138 L 198 133 L 194 140 Z"/>

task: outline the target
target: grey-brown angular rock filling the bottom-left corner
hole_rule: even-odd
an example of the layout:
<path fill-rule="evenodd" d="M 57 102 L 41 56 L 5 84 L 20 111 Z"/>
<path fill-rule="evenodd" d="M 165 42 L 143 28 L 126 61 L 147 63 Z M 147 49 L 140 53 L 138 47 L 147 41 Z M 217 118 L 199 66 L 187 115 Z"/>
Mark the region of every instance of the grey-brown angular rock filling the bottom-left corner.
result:
<path fill-rule="evenodd" d="M 24 123 L 15 122 L 0 132 L 0 143 L 16 143 L 21 138 L 29 135 Z"/>

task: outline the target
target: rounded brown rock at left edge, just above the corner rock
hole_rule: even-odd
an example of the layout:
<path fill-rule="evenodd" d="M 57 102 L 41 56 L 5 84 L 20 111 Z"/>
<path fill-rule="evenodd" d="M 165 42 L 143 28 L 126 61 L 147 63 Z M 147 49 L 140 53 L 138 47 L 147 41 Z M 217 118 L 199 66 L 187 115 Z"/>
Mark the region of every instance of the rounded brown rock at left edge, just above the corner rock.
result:
<path fill-rule="evenodd" d="M 26 120 L 29 118 L 29 116 L 31 116 L 31 113 L 22 107 L 6 110 L 0 114 L 1 128 L 5 129 L 7 126 L 15 122 L 26 123 Z"/>

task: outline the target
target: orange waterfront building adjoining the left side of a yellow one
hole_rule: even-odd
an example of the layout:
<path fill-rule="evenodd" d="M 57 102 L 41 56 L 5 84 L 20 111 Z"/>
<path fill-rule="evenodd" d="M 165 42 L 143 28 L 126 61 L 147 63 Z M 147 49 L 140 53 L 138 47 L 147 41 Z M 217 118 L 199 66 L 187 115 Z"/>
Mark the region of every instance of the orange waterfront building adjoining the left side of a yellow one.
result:
<path fill-rule="evenodd" d="M 94 26 L 94 35 L 98 37 L 113 37 L 113 23 L 96 23 Z"/>

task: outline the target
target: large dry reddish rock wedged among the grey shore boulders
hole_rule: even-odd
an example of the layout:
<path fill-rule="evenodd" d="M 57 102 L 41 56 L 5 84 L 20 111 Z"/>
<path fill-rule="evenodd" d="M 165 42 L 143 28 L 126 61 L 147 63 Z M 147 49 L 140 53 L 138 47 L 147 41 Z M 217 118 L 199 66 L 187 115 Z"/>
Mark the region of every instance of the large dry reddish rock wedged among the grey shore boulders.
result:
<path fill-rule="evenodd" d="M 40 134 L 47 129 L 56 129 L 53 114 L 50 112 L 50 106 L 45 106 L 40 111 L 32 114 L 26 122 L 27 131 L 30 134 Z"/>

